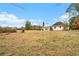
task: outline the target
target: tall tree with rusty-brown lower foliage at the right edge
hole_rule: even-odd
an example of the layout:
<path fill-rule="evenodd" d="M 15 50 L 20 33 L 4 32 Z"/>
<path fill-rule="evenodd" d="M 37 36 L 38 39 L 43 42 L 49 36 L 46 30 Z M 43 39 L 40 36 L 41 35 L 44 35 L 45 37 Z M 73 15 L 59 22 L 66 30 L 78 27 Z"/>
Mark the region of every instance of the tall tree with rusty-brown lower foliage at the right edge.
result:
<path fill-rule="evenodd" d="M 79 26 L 79 3 L 71 3 L 66 13 L 69 14 L 69 29 L 78 29 Z"/>

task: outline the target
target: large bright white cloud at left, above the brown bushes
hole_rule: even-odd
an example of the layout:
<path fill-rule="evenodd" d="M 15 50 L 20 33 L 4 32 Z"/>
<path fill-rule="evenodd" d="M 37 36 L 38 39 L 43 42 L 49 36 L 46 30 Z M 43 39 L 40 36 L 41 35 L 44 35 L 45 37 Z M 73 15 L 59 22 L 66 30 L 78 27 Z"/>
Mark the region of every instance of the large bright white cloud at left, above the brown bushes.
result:
<path fill-rule="evenodd" d="M 0 26 L 21 27 L 25 23 L 25 19 L 19 19 L 14 14 L 0 13 Z"/>

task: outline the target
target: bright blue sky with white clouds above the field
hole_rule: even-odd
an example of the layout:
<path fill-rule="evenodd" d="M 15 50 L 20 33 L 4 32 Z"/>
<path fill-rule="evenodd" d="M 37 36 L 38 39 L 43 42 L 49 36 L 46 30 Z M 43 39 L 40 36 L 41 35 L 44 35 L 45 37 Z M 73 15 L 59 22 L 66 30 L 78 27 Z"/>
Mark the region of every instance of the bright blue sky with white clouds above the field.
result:
<path fill-rule="evenodd" d="M 26 21 L 32 25 L 51 26 L 68 19 L 67 3 L 0 3 L 0 26 L 22 27 Z"/>

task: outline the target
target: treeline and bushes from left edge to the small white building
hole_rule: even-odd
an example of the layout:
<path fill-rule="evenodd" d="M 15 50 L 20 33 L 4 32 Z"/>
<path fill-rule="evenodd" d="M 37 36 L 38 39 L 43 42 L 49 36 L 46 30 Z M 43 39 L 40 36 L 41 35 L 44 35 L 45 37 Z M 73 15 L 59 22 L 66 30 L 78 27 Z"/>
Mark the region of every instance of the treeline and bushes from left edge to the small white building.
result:
<path fill-rule="evenodd" d="M 1 27 L 0 26 L 0 33 L 15 33 L 17 30 L 41 30 L 42 26 L 40 25 L 32 25 L 30 21 L 26 21 L 26 24 L 24 27 Z"/>

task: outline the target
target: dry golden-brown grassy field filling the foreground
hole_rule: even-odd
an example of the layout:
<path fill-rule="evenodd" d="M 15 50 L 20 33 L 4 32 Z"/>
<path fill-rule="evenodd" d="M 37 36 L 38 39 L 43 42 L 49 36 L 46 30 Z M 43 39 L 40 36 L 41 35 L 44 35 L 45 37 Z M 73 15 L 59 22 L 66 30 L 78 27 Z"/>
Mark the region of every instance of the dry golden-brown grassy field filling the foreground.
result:
<path fill-rule="evenodd" d="M 79 56 L 79 31 L 0 33 L 2 56 Z"/>

